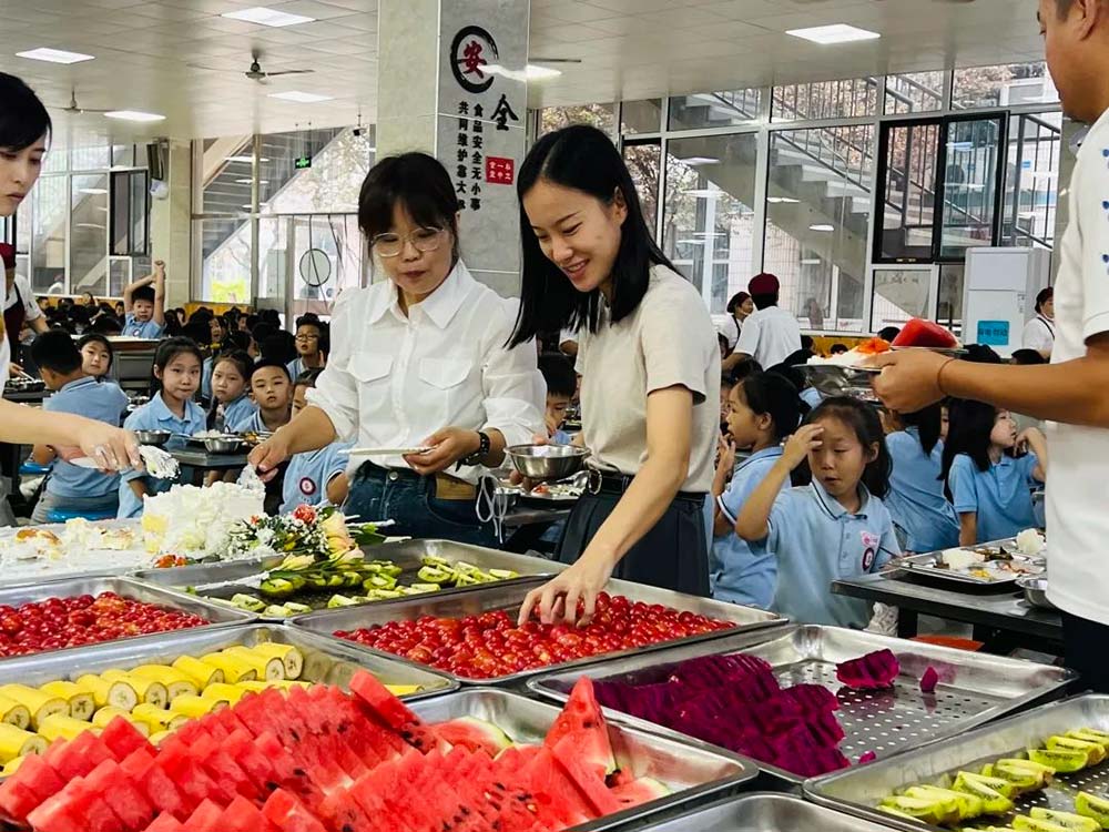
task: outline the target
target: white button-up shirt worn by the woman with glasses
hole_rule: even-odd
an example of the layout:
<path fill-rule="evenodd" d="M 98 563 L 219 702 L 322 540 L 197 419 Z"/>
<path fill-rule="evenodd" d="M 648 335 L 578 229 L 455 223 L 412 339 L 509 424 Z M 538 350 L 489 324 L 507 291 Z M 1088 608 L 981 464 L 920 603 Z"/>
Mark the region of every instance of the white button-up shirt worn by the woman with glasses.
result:
<path fill-rule="evenodd" d="M 413 448 L 445 427 L 496 429 L 509 445 L 531 444 L 545 430 L 547 387 L 535 345 L 505 346 L 518 305 L 461 262 L 407 316 L 391 282 L 348 290 L 335 304 L 327 368 L 308 402 L 358 447 Z M 370 461 L 408 467 L 399 456 Z M 476 483 L 480 470 L 448 473 Z"/>

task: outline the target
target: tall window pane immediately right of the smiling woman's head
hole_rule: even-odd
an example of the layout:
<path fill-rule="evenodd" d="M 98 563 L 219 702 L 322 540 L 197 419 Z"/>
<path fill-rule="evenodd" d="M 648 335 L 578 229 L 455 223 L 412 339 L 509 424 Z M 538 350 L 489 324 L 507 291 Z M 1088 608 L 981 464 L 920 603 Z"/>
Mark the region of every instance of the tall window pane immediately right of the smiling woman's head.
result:
<path fill-rule="evenodd" d="M 757 159 L 754 133 L 667 144 L 664 248 L 714 314 L 754 274 Z"/>

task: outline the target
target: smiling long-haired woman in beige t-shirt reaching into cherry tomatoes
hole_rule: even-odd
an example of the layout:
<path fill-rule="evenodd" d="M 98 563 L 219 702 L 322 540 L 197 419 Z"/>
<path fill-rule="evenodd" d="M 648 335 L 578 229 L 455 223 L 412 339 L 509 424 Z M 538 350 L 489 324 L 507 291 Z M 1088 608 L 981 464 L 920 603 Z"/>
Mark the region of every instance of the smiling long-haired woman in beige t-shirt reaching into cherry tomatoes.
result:
<path fill-rule="evenodd" d="M 513 344 L 580 332 L 581 442 L 597 471 L 559 547 L 572 566 L 520 616 L 592 616 L 610 577 L 709 593 L 705 495 L 720 429 L 720 351 L 698 291 L 662 254 L 604 133 L 543 136 L 520 169 L 523 288 Z"/>

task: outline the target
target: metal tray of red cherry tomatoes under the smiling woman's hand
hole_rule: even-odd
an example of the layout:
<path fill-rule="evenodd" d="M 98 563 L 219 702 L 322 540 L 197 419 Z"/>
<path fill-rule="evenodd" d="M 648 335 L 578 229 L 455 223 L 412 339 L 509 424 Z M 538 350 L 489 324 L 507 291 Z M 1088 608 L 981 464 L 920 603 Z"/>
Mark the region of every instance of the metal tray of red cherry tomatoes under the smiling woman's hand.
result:
<path fill-rule="evenodd" d="M 739 632 L 773 632 L 786 623 L 753 607 L 611 580 L 584 627 L 543 625 L 535 615 L 517 626 L 525 597 L 542 582 L 321 610 L 293 619 L 292 626 L 434 668 L 462 684 L 488 686 L 513 684 L 552 667 L 591 664 Z"/>

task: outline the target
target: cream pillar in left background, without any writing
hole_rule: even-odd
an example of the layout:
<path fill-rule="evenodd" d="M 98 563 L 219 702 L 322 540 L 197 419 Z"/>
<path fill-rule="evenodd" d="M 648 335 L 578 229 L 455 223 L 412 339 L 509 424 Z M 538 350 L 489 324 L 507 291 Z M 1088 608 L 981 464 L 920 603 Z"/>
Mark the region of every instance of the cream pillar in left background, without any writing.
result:
<path fill-rule="evenodd" d="M 151 261 L 165 261 L 165 305 L 172 307 L 184 306 L 192 297 L 192 149 L 189 142 L 171 141 L 166 156 L 170 193 L 164 200 L 151 200 L 150 253 Z"/>

